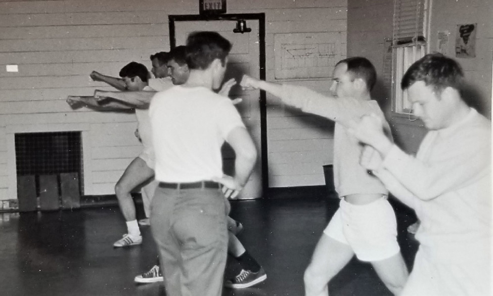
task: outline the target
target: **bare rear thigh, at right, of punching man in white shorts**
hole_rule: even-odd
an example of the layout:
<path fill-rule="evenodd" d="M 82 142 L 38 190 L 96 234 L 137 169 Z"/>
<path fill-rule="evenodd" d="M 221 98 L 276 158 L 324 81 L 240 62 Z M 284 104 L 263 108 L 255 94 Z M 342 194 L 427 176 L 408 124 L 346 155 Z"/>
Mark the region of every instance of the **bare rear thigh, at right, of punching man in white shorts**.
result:
<path fill-rule="evenodd" d="M 385 286 L 394 295 L 400 295 L 409 277 L 408 268 L 400 252 L 390 258 L 374 261 L 372 266 Z"/>

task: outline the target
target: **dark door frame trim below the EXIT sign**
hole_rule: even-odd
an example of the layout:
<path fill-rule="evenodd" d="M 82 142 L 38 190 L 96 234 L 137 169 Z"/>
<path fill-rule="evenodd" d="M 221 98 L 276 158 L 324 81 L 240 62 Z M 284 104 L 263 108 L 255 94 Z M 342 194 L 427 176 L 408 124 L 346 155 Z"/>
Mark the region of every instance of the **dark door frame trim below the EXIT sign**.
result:
<path fill-rule="evenodd" d="M 260 79 L 265 80 L 265 14 L 264 13 L 242 13 L 242 14 L 221 14 L 221 15 L 169 15 L 169 46 L 176 46 L 175 22 L 190 21 L 237 21 L 237 20 L 258 20 L 258 39 L 259 39 L 259 66 Z M 267 163 L 267 109 L 266 95 L 260 91 L 260 161 L 262 164 L 262 192 L 266 195 L 269 189 L 268 183 L 268 163 Z"/>

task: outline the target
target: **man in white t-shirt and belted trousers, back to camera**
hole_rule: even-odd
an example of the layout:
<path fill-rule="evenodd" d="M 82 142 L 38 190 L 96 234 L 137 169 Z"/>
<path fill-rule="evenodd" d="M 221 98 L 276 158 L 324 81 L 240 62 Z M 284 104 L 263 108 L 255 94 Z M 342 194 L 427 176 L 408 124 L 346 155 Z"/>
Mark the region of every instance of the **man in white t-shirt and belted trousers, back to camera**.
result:
<path fill-rule="evenodd" d="M 160 182 L 151 229 L 166 294 L 218 296 L 228 249 L 225 195 L 235 198 L 243 189 L 257 153 L 231 100 L 212 91 L 221 85 L 231 43 L 195 32 L 186 46 L 187 82 L 156 94 L 149 107 Z M 234 176 L 222 173 L 225 141 L 236 153 Z"/>

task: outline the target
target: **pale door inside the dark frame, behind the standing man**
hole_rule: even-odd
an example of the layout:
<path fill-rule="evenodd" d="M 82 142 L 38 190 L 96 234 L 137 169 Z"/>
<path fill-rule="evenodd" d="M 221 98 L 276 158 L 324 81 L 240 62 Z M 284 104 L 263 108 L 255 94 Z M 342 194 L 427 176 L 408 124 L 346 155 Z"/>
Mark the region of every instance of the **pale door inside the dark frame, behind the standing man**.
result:
<path fill-rule="evenodd" d="M 193 31 L 216 31 L 233 44 L 229 56 L 225 80 L 235 78 L 239 83 L 243 74 L 259 78 L 259 34 L 258 20 L 248 20 L 247 26 L 252 29 L 247 33 L 234 33 L 236 21 L 177 21 L 175 22 L 176 46 L 185 45 L 187 36 Z M 260 92 L 258 90 L 243 91 L 239 85 L 233 87 L 230 98 L 242 98 L 243 101 L 236 105 L 245 123 L 248 132 L 257 147 L 257 163 L 254 172 L 239 198 L 249 199 L 262 196 L 262 167 L 260 161 Z M 233 175 L 235 164 L 235 153 L 233 149 L 225 144 L 222 147 L 223 170 L 225 174 Z"/>

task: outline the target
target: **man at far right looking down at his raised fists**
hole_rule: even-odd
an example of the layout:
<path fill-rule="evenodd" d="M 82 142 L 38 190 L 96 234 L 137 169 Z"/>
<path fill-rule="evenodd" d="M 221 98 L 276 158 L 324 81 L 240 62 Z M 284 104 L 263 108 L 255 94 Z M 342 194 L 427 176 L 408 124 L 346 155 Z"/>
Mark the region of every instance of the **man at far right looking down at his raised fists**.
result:
<path fill-rule="evenodd" d="M 461 96 L 460 65 L 442 54 L 415 62 L 402 77 L 413 113 L 428 134 L 416 157 L 364 117 L 353 133 L 369 145 L 361 163 L 421 221 L 414 267 L 402 296 L 491 295 L 491 121 Z"/>

